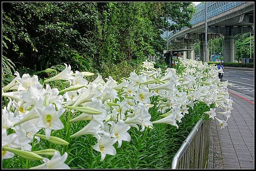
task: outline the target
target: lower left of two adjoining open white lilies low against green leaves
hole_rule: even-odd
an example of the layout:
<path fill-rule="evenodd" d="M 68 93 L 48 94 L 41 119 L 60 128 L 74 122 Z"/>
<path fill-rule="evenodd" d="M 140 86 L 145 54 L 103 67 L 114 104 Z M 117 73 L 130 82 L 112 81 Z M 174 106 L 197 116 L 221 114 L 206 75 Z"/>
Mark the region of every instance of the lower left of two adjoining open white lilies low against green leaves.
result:
<path fill-rule="evenodd" d="M 116 143 L 116 138 L 111 138 L 109 133 L 105 133 L 98 143 L 93 146 L 93 149 L 101 153 L 101 162 L 105 159 L 106 154 L 116 155 L 116 149 L 113 146 L 114 143 Z"/>

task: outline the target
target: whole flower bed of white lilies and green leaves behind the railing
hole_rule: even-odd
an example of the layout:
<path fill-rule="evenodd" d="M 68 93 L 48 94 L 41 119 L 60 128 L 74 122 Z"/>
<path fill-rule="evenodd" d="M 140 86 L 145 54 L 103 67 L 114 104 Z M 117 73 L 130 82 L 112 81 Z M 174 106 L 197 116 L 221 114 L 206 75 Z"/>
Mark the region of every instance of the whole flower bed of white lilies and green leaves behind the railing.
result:
<path fill-rule="evenodd" d="M 182 60 L 162 72 L 143 62 L 118 82 L 88 82 L 93 73 L 65 65 L 41 83 L 16 73 L 2 88 L 3 168 L 170 168 L 200 118 L 224 128 L 233 109 L 231 84 L 207 63 Z"/>

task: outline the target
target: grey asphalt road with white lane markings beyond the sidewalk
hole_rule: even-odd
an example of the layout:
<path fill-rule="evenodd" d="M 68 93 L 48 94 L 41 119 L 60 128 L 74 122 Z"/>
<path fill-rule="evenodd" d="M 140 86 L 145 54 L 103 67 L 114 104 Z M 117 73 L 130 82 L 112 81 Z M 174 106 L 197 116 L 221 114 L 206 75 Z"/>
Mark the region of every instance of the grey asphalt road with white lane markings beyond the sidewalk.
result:
<path fill-rule="evenodd" d="M 254 70 L 225 68 L 223 81 L 227 80 L 233 84 L 232 87 L 228 87 L 229 90 L 235 90 L 254 98 Z"/>

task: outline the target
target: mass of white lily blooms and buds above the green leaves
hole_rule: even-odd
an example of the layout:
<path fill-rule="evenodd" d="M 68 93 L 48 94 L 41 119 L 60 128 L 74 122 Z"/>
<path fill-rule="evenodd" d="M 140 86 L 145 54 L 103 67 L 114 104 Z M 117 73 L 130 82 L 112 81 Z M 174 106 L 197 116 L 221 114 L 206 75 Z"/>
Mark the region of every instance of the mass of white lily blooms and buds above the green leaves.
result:
<path fill-rule="evenodd" d="M 92 135 L 97 142 L 91 148 L 101 153 L 100 161 L 103 161 L 107 154 L 116 155 L 115 143 L 116 148 L 120 148 L 123 141 L 131 140 L 131 127 L 141 132 L 154 129 L 154 124 L 178 128 L 177 123 L 182 122 L 184 115 L 189 115 L 189 107 L 203 102 L 224 111 L 215 112 L 215 108 L 210 108 L 205 112 L 205 118 L 216 119 L 222 129 L 227 126 L 233 109 L 227 89 L 232 84 L 219 81 L 215 66 L 206 62 L 180 60 L 183 70 L 177 72 L 174 68 L 156 69 L 154 62 L 145 61 L 128 78 L 118 82 L 111 76 L 104 80 L 99 74 L 89 82 L 85 77 L 93 73 L 73 73 L 70 65 L 65 66 L 61 73 L 44 80 L 43 84 L 38 76 L 24 74 L 20 77 L 15 73 L 16 78 L 2 87 L 6 100 L 2 108 L 3 159 L 17 154 L 27 160 L 44 161 L 32 168 L 70 168 L 64 163 L 70 139 Z M 56 80 L 65 80 L 66 88 L 58 90 L 46 84 Z M 151 107 L 157 109 L 160 119 L 152 121 Z M 226 119 L 221 120 L 218 115 Z M 70 135 L 73 123 L 78 121 L 88 121 L 88 124 Z M 65 138 L 52 136 L 53 130 L 61 131 L 64 125 L 67 126 L 63 133 Z M 39 131 L 45 135 L 38 134 Z M 40 143 L 41 139 L 63 145 L 63 151 L 51 148 L 34 151 L 35 141 Z M 49 160 L 41 155 L 53 157 Z"/>

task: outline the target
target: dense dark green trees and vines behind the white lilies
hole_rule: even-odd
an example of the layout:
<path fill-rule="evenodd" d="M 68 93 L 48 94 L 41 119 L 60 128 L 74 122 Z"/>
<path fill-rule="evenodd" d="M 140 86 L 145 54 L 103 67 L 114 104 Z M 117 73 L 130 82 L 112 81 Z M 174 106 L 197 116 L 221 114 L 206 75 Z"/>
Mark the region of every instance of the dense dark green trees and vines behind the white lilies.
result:
<path fill-rule="evenodd" d="M 163 53 L 160 34 L 191 27 L 193 12 L 192 3 L 3 3 L 3 56 L 20 70 L 65 62 L 104 73 Z"/>

